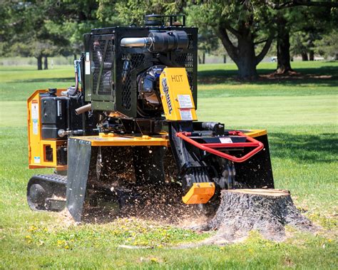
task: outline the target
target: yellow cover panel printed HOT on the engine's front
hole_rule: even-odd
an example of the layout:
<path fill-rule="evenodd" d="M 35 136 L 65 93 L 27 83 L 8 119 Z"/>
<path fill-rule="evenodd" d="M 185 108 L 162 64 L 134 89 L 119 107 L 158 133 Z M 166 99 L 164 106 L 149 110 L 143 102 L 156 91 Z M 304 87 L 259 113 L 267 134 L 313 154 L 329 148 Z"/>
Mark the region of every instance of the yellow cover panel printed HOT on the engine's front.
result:
<path fill-rule="evenodd" d="M 185 68 L 163 70 L 160 75 L 160 94 L 166 120 L 197 120 Z"/>

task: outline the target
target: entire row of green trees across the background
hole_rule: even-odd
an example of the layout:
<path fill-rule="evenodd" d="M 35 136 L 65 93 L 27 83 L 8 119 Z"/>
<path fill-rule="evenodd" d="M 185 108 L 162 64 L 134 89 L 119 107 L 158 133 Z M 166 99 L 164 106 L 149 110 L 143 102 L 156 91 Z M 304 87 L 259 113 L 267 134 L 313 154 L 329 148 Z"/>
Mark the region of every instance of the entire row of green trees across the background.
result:
<path fill-rule="evenodd" d="M 0 54 L 35 56 L 41 68 L 43 57 L 81 53 L 91 28 L 142 25 L 145 14 L 186 14 L 188 25 L 200 28 L 200 53 L 225 49 L 239 77 L 253 79 L 274 38 L 280 71 L 291 70 L 290 50 L 310 58 L 337 54 L 336 6 L 334 0 L 3 0 Z"/>

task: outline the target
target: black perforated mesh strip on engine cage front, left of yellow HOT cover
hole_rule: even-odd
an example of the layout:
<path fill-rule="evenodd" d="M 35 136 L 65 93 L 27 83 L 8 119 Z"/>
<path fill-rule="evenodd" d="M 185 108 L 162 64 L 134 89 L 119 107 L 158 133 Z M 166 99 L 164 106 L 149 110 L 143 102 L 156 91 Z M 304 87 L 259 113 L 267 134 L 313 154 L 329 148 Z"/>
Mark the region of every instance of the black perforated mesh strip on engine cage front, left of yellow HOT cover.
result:
<path fill-rule="evenodd" d="M 122 105 L 127 110 L 131 108 L 131 72 L 141 66 L 144 63 L 145 56 L 143 53 L 128 53 L 122 55 L 122 61 L 124 67 L 128 66 L 128 69 L 123 71 L 123 83 L 122 83 Z M 126 63 L 128 62 L 128 63 Z M 133 78 L 135 81 L 136 78 Z"/>

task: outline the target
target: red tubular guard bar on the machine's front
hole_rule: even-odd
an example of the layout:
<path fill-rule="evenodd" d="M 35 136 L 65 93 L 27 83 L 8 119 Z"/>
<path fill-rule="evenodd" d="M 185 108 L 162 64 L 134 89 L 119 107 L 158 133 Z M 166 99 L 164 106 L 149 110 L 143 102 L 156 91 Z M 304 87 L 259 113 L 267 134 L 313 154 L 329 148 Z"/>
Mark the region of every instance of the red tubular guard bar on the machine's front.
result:
<path fill-rule="evenodd" d="M 194 145 L 195 147 L 200 148 L 201 150 L 204 150 L 206 152 L 210 152 L 211 154 L 217 155 L 219 157 L 223 157 L 227 160 L 231 160 L 233 162 L 244 162 L 245 160 L 249 159 L 253 155 L 255 155 L 257 152 L 260 152 L 260 150 L 263 149 L 264 145 L 262 142 L 259 142 L 258 140 L 255 140 L 252 137 L 249 137 L 245 135 L 244 133 L 240 131 L 229 131 L 229 135 L 235 135 L 235 136 L 242 136 L 245 137 L 249 142 L 233 142 L 233 143 L 199 143 L 196 142 L 193 139 L 190 139 L 191 133 L 176 133 L 176 136 L 180 137 L 181 139 L 185 140 L 185 142 L 189 142 L 191 145 Z M 208 146 L 207 146 L 208 145 Z M 235 157 L 233 155 L 225 154 L 224 152 L 220 152 L 218 150 L 215 150 L 213 148 L 235 148 L 235 147 L 255 147 L 255 149 L 251 150 L 247 153 L 247 155 L 244 155 L 243 157 Z"/>

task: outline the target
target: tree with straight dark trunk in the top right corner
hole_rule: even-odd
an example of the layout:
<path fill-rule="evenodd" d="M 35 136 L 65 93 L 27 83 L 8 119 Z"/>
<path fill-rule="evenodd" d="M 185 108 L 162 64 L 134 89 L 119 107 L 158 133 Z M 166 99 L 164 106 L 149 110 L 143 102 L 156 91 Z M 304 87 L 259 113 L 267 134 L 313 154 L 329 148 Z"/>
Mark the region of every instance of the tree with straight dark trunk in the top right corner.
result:
<path fill-rule="evenodd" d="M 276 73 L 292 71 L 290 36 L 295 33 L 293 51 L 307 61 L 314 59 L 314 41 L 332 28 L 337 16 L 337 1 L 265 0 L 270 9 L 277 10 L 277 69 Z"/>

